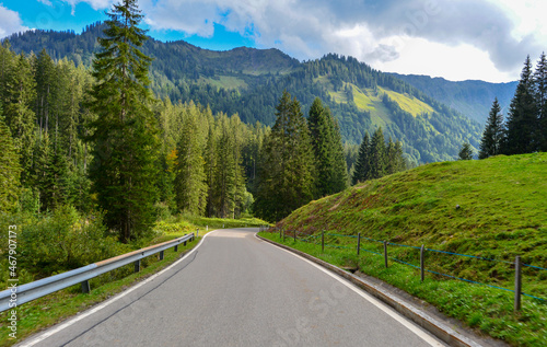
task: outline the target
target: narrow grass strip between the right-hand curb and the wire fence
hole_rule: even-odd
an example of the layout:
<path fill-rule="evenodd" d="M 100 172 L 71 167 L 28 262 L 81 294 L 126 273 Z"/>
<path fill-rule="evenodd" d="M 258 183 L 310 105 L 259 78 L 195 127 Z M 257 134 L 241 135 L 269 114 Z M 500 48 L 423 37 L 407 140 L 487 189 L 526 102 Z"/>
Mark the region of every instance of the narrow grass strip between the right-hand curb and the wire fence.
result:
<path fill-rule="evenodd" d="M 322 252 L 321 239 L 315 241 L 317 243 L 318 240 L 319 244 L 313 244 L 294 242 L 291 236 L 286 236 L 283 241 L 278 232 L 260 232 L 259 235 L 338 267 L 357 267 L 363 274 L 384 280 L 429 302 L 439 311 L 464 322 L 480 334 L 502 339 L 513 346 L 547 346 L 546 303 L 523 298 L 522 310 L 515 314 L 512 292 L 444 279 L 432 274 L 427 274 L 424 281 L 421 282 L 418 269 L 393 261 L 389 261 L 389 267 L 385 268 L 382 255 L 361 251 L 361 255 L 357 256 L 356 248 L 327 246 L 325 252 Z"/>

